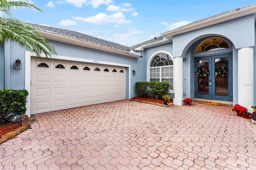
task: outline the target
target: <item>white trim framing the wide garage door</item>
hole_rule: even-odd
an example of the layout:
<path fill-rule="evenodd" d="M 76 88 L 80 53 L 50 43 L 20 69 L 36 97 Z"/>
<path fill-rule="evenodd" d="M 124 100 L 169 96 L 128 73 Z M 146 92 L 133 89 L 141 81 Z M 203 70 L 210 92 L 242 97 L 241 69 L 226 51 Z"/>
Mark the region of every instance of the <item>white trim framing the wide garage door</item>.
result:
<path fill-rule="evenodd" d="M 30 117 L 30 107 L 31 107 L 31 56 L 36 56 L 34 53 L 25 51 L 25 89 L 28 91 L 28 97 L 27 97 L 27 103 L 26 103 L 26 115 Z M 45 54 L 41 54 L 42 58 L 45 58 Z M 86 63 L 93 63 L 93 64 L 100 64 L 100 65 L 114 65 L 114 66 L 120 66 L 120 67 L 128 67 L 129 69 L 129 92 L 128 92 L 128 99 L 131 98 L 131 65 L 128 64 L 122 64 L 122 63 L 112 63 L 107 61 L 100 61 L 100 60 L 92 60 L 92 59 L 83 59 L 83 58 L 76 58 L 76 57 L 67 57 L 63 55 L 56 55 L 53 59 L 62 59 L 62 60 L 68 60 L 68 61 L 80 61 L 80 62 L 86 62 Z M 126 97 L 127 99 L 127 97 Z"/>

